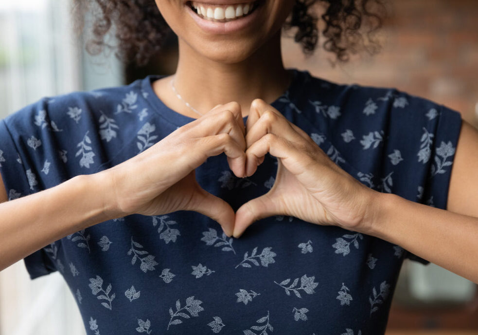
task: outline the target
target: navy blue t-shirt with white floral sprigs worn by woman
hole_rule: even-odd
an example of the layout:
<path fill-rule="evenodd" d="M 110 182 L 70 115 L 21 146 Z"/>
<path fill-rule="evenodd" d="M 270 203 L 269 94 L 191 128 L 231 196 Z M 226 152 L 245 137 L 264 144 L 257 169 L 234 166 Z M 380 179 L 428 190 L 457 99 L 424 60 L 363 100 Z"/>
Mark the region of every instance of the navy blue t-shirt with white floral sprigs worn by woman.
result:
<path fill-rule="evenodd" d="M 290 71 L 272 106 L 338 166 L 377 191 L 446 209 L 459 112 Z M 151 83 L 160 77 L 44 97 L 0 121 L 9 200 L 118 165 L 193 121 L 159 100 Z M 222 153 L 196 178 L 236 210 L 266 193 L 276 171 L 267 154 L 254 175 L 237 178 Z M 60 271 L 87 334 L 365 335 L 384 333 L 406 257 L 389 242 L 294 217 L 259 220 L 234 239 L 202 214 L 176 211 L 93 225 L 25 265 L 32 279 Z"/>

